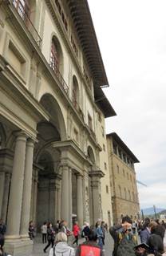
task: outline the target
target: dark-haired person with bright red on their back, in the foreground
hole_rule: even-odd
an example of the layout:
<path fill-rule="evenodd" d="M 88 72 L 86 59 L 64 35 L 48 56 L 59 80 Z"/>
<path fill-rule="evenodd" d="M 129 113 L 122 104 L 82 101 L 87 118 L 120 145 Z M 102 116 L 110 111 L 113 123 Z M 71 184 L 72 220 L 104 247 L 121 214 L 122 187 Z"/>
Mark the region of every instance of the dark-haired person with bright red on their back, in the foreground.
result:
<path fill-rule="evenodd" d="M 85 255 L 104 255 L 101 247 L 97 245 L 97 233 L 93 230 L 89 230 L 88 240 L 77 247 L 76 256 Z"/>

